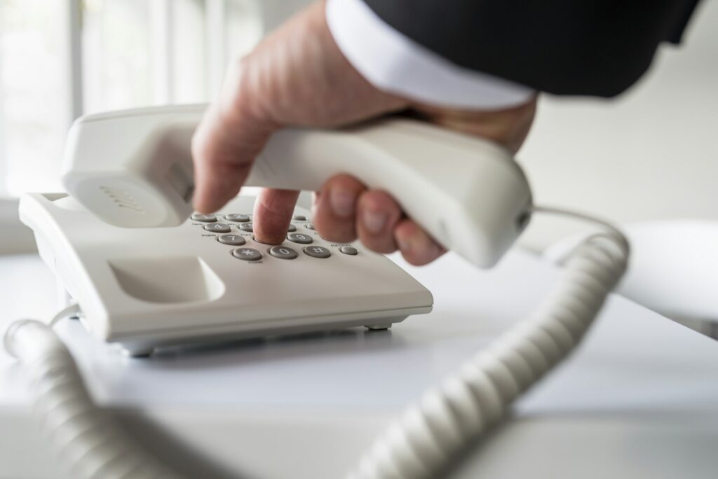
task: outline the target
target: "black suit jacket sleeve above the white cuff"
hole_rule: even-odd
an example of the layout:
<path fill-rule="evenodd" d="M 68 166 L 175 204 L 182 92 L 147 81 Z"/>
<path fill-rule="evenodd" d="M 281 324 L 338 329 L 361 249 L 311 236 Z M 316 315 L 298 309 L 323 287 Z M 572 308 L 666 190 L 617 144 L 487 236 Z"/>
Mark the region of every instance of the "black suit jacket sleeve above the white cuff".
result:
<path fill-rule="evenodd" d="M 699 0 L 364 0 L 456 65 L 557 95 L 612 97 L 680 42 Z"/>

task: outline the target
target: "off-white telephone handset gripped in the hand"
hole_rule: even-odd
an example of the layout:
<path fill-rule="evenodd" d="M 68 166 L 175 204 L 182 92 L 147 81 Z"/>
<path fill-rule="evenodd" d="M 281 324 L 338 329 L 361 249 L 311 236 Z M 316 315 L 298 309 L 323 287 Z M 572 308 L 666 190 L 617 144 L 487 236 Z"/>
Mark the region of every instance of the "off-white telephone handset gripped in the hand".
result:
<path fill-rule="evenodd" d="M 65 151 L 67 192 L 116 226 L 181 224 L 192 211 L 190 140 L 205 109 L 78 119 Z M 285 128 L 270 138 L 245 184 L 317 191 L 339 173 L 391 191 L 437 241 L 480 267 L 495 265 L 528 223 L 528 181 L 505 148 L 416 120 Z"/>

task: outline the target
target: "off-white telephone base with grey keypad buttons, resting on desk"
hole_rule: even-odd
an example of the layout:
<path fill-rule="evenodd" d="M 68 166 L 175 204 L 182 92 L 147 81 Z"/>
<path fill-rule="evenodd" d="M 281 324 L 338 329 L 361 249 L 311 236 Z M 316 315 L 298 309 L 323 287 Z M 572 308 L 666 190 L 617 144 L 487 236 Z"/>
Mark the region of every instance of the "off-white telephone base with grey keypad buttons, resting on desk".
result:
<path fill-rule="evenodd" d="M 253 237 L 254 198 L 175 228 L 120 228 L 64 194 L 25 194 L 20 218 L 93 336 L 128 356 L 154 348 L 338 328 L 386 329 L 432 295 L 359 243 L 325 240 L 297 207 L 286 241 Z M 353 254 L 343 250 L 350 250 Z M 243 255 L 250 255 L 246 257 Z"/>

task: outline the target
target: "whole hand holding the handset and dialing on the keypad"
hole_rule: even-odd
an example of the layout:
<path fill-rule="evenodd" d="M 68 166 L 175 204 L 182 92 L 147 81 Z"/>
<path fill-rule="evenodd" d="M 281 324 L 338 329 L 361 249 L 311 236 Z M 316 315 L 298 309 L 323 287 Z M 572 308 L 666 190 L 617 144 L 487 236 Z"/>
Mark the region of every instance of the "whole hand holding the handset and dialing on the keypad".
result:
<path fill-rule="evenodd" d="M 415 105 L 383 93 L 343 57 L 325 22 L 325 2 L 318 1 L 230 68 L 220 97 L 192 141 L 195 208 L 213 212 L 236 196 L 269 136 L 285 125 L 333 127 L 409 108 L 426 120 L 516 151 L 530 128 L 535 100 L 509 110 L 468 112 Z M 284 240 L 298 194 L 261 192 L 254 209 L 257 240 Z M 350 242 L 359 237 L 377 252 L 398 248 L 416 265 L 444 252 L 404 217 L 389 194 L 367 189 L 347 175 L 335 176 L 317 193 L 313 221 L 327 240 Z"/>

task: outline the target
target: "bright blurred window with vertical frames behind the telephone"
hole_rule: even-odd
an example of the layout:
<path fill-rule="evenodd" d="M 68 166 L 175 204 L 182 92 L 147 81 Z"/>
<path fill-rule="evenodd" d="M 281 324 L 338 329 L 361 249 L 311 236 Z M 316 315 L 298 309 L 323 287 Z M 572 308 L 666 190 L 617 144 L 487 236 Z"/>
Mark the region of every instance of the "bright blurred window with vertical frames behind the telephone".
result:
<path fill-rule="evenodd" d="M 57 191 L 81 114 L 218 93 L 261 0 L 0 0 L 0 196 Z"/>

